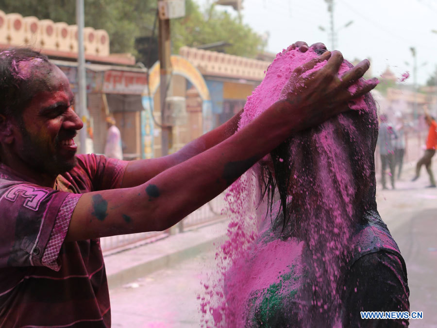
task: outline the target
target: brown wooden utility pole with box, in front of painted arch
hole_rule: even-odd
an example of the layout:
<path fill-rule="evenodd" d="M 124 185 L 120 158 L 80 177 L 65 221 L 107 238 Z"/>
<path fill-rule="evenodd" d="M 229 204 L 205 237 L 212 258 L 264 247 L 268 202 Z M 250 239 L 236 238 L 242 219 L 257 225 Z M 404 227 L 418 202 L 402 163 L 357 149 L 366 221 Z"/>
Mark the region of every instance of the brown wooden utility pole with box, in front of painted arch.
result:
<path fill-rule="evenodd" d="M 158 1 L 166 2 L 166 1 Z M 159 49 L 159 64 L 160 64 L 160 105 L 161 105 L 161 155 L 168 155 L 170 139 L 172 137 L 171 126 L 166 126 L 165 123 L 165 106 L 167 89 L 171 79 L 171 53 L 170 44 L 170 19 L 168 16 L 159 13 L 158 17 L 158 49 Z"/>

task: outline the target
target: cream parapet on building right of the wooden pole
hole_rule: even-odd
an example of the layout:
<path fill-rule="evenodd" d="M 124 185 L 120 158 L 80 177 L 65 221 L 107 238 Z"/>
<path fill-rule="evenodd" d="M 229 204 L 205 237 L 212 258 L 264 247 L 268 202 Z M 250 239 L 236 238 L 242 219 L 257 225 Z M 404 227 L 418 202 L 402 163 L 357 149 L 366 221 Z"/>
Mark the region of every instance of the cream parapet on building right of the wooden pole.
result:
<path fill-rule="evenodd" d="M 202 75 L 262 81 L 270 62 L 221 52 L 182 47 L 179 54 L 189 60 Z"/>

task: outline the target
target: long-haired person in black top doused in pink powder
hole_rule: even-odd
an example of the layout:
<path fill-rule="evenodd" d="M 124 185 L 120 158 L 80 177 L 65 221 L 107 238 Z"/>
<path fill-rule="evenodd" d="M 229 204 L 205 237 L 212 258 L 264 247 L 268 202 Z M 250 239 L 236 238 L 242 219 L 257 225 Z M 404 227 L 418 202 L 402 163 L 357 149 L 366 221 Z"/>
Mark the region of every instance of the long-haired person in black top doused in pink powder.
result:
<path fill-rule="evenodd" d="M 278 54 L 248 98 L 240 128 L 287 99 L 299 87 L 288 82 L 293 69 L 319 53 Z M 351 68 L 344 61 L 339 76 Z M 269 213 L 225 273 L 226 326 L 408 326 L 405 263 L 375 199 L 375 101 L 367 93 L 349 108 L 294 134 L 254 166 Z M 402 317 L 365 320 L 361 311 Z"/>

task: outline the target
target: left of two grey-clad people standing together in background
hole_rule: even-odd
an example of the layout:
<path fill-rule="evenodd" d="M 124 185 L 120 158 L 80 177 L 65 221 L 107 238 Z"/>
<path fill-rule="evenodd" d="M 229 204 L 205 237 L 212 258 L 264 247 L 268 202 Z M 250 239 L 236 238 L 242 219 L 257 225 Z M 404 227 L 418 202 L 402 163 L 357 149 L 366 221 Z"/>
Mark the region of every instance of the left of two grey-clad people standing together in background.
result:
<path fill-rule="evenodd" d="M 395 189 L 394 177 L 395 177 L 395 155 L 394 155 L 394 140 L 396 139 L 396 133 L 393 126 L 388 123 L 387 115 L 382 114 L 379 117 L 379 134 L 378 145 L 379 154 L 381 155 L 381 182 L 383 189 L 387 189 L 386 186 L 386 169 L 387 165 L 390 168 L 390 181 L 391 188 Z"/>

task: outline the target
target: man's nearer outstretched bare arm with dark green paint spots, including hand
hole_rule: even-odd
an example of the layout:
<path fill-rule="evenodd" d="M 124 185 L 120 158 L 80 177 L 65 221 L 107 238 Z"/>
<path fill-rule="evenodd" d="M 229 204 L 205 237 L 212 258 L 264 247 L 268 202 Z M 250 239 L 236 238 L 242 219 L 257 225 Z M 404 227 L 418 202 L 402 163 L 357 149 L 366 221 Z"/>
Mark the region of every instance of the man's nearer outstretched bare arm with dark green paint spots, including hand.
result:
<path fill-rule="evenodd" d="M 302 74 L 323 60 L 328 63 Z M 369 68 L 363 61 L 338 79 L 339 52 L 326 52 L 296 69 L 290 80 L 299 97 L 269 107 L 250 124 L 217 145 L 157 174 L 136 187 L 84 194 L 74 209 L 67 241 L 164 230 L 232 184 L 286 138 L 346 110 L 350 99 L 376 86 L 370 81 L 354 94 L 347 90 Z M 328 108 L 326 110 L 326 108 Z"/>

